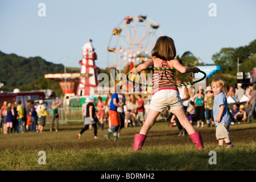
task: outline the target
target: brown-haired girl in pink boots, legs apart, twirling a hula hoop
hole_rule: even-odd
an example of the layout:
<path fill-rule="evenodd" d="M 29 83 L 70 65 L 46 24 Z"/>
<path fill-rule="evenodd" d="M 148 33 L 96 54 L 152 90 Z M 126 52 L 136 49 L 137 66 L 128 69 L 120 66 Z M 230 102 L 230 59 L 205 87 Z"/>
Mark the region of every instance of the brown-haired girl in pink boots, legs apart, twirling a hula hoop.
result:
<path fill-rule="evenodd" d="M 138 65 L 137 68 L 133 68 L 130 72 L 135 74 L 151 66 L 175 68 L 181 73 L 198 73 L 200 71 L 197 67 L 184 67 L 174 58 L 176 56 L 174 40 L 168 36 L 158 38 L 155 47 L 151 51 L 151 55 L 152 57 Z M 185 115 L 179 91 L 174 81 L 174 70 L 155 70 L 152 76 L 152 91 L 150 109 L 148 109 L 147 117 L 141 131 L 139 134 L 135 134 L 133 151 L 137 151 L 143 146 L 148 131 L 154 124 L 155 119 L 166 107 L 174 111 L 180 124 L 187 130 L 193 143 L 196 144 L 196 148 L 202 150 L 204 145 L 200 131 L 196 132 Z"/>

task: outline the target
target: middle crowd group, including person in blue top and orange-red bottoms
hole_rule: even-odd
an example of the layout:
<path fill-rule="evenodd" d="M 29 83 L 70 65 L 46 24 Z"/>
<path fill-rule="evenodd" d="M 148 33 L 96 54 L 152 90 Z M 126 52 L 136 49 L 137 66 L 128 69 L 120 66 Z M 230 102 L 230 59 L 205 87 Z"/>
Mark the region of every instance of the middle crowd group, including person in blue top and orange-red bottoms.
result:
<path fill-rule="evenodd" d="M 97 110 L 94 107 L 96 102 Z M 145 104 L 146 103 L 146 104 Z M 84 117 L 84 128 L 77 134 L 80 139 L 82 133 L 88 129 L 94 130 L 94 138 L 97 139 L 97 126 L 104 130 L 104 121 L 108 126 L 105 137 L 108 140 L 113 133 L 114 140 L 119 140 L 120 131 L 124 127 L 142 126 L 146 118 L 149 100 L 142 99 L 141 94 L 129 94 L 127 97 L 122 93 L 108 94 L 105 102 L 102 97 L 91 96 L 82 105 L 82 115 Z"/>

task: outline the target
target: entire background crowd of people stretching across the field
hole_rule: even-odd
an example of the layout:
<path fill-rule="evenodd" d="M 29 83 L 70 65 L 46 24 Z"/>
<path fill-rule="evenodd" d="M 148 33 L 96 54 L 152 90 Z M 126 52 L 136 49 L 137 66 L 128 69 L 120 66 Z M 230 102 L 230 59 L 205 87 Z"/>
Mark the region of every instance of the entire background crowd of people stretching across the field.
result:
<path fill-rule="evenodd" d="M 176 83 L 182 84 L 182 81 L 178 80 Z M 109 93 L 104 102 L 100 96 L 97 99 L 93 96 L 87 98 L 82 105 L 85 127 L 77 135 L 79 139 L 82 133 L 88 129 L 94 130 L 94 138 L 97 138 L 97 126 L 102 131 L 104 130 L 104 124 L 108 125 L 108 131 L 105 137 L 109 140 L 111 133 L 114 133 L 114 140 L 120 139 L 120 131 L 124 127 L 143 125 L 149 109 L 150 100 L 146 96 L 142 98 L 141 94 L 129 94 L 127 96 L 122 93 L 115 94 L 115 97 L 113 97 L 113 94 Z M 200 86 L 197 93 L 195 93 L 193 85 L 180 86 L 179 95 L 188 121 L 192 125 L 196 125 L 197 127 L 204 127 L 205 124 L 207 126 L 215 126 L 213 119 L 214 94 L 211 86 L 207 86 L 205 92 L 203 87 Z M 243 95 L 247 96 L 249 100 L 245 104 L 236 102 L 233 104 L 232 109 L 229 109 L 232 125 L 251 121 L 256 106 L 256 84 L 247 86 L 246 89 L 242 88 L 241 84 L 237 84 L 236 88 L 230 86 L 226 93 L 226 98 L 236 97 L 240 100 Z M 60 105 L 60 100 L 52 102 L 50 131 L 52 131 L 54 124 L 55 131 L 58 131 L 59 114 L 57 108 Z M 246 111 L 245 107 L 249 108 L 249 112 Z M 115 120 L 112 117 L 113 110 L 116 111 L 116 116 L 114 115 L 114 117 L 118 118 L 118 122 L 115 123 L 110 122 L 111 119 L 113 121 Z M 37 102 L 36 105 L 33 101 L 27 100 L 24 106 L 20 101 L 14 103 L 7 103 L 5 101 L 1 106 L 0 112 L 1 130 L 3 130 L 4 134 L 24 133 L 24 131 L 42 133 L 44 131 L 47 111 L 43 100 Z M 185 129 L 180 125 L 179 120 L 171 110 L 166 109 L 163 115 L 166 121 L 170 122 L 170 127 L 177 126 L 179 128 L 179 136 L 186 135 Z M 113 128 L 113 126 L 118 127 Z"/>

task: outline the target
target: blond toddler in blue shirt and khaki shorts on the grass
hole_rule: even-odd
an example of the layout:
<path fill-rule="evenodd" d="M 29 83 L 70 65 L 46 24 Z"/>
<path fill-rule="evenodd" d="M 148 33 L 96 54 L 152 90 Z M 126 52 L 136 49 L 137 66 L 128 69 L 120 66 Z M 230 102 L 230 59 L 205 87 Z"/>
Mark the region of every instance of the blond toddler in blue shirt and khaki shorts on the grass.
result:
<path fill-rule="evenodd" d="M 233 148 L 229 139 L 230 117 L 228 112 L 228 102 L 226 100 L 226 82 L 222 78 L 212 80 L 212 89 L 214 92 L 213 118 L 216 125 L 216 139 L 221 148 L 226 143 L 226 148 Z"/>

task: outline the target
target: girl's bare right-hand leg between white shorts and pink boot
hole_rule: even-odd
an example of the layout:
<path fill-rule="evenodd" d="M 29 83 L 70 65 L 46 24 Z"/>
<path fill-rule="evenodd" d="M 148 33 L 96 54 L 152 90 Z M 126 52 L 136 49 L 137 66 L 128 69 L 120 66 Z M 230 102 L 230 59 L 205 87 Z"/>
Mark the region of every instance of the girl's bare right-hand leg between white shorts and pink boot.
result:
<path fill-rule="evenodd" d="M 188 121 L 188 118 L 185 115 L 185 111 L 183 107 L 181 107 L 180 109 L 174 110 L 174 114 L 176 115 L 177 119 L 179 119 L 179 122 L 184 127 L 184 129 L 187 130 L 187 133 L 189 135 L 196 132 L 195 128 Z"/>

